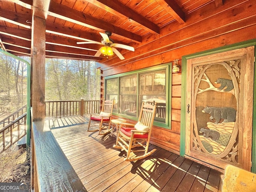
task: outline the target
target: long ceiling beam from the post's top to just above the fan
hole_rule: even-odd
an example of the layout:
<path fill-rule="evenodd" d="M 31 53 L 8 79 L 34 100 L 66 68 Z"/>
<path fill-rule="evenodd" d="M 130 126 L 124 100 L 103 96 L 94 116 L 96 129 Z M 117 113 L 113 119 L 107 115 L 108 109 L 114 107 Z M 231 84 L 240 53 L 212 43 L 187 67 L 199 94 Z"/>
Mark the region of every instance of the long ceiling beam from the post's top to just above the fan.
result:
<path fill-rule="evenodd" d="M 66 16 L 67 12 L 69 13 L 69 17 Z M 137 34 L 134 34 L 122 28 L 116 27 L 100 19 L 93 18 L 88 14 L 84 14 L 80 11 L 74 10 L 72 8 L 69 8 L 67 6 L 64 6 L 54 1 L 50 2 L 48 14 L 72 23 L 79 24 L 81 26 L 98 30 L 100 32 L 110 31 L 112 32 L 112 35 L 126 38 L 128 40 L 132 40 L 137 43 L 142 42 L 141 36 Z"/>

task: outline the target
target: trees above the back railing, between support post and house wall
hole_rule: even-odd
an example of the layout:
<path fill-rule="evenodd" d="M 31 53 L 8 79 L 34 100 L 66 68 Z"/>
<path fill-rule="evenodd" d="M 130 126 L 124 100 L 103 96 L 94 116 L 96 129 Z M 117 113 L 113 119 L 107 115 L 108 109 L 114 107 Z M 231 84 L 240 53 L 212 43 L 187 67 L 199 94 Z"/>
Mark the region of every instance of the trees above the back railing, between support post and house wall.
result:
<path fill-rule="evenodd" d="M 45 83 L 46 100 L 100 98 L 100 73 L 92 61 L 46 59 Z"/>

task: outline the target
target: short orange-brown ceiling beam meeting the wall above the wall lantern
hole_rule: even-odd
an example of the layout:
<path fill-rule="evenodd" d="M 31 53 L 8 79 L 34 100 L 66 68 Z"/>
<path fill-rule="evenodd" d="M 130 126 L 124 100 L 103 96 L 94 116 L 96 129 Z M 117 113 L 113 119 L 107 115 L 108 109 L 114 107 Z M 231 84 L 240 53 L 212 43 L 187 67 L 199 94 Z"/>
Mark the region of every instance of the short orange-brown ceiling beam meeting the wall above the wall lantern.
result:
<path fill-rule="evenodd" d="M 185 13 L 174 0 L 156 0 L 180 24 L 185 23 Z"/>

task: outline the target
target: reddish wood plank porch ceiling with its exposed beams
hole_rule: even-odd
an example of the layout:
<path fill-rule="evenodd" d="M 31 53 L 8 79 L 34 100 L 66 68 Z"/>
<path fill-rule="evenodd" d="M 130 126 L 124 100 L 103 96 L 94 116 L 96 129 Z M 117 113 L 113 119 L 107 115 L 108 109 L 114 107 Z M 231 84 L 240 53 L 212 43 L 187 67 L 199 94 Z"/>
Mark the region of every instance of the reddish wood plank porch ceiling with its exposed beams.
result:
<path fill-rule="evenodd" d="M 110 31 L 115 43 L 133 46 L 136 52 L 147 39 L 159 38 L 161 28 L 184 24 L 187 14 L 212 1 L 216 7 L 223 4 L 222 0 L 0 0 L 0 47 L 30 56 L 32 10 L 36 10 L 46 15 L 47 58 L 102 62 L 103 55 L 94 56 L 102 45 L 76 42 L 100 42 L 99 32 Z"/>

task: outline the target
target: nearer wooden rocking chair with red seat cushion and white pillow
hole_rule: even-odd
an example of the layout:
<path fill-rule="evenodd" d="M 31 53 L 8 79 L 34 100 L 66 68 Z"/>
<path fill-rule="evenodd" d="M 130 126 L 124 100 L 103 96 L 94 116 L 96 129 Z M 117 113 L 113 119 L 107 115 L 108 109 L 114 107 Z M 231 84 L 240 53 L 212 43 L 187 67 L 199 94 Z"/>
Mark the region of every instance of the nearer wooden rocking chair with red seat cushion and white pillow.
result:
<path fill-rule="evenodd" d="M 156 103 L 153 106 L 142 102 L 137 124 L 120 123 L 114 147 L 127 152 L 126 158 L 124 158 L 125 161 L 140 160 L 156 151 L 156 149 L 153 149 L 148 152 L 155 112 Z M 133 157 L 132 152 L 144 152 L 144 154 Z"/>

